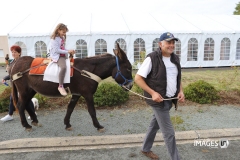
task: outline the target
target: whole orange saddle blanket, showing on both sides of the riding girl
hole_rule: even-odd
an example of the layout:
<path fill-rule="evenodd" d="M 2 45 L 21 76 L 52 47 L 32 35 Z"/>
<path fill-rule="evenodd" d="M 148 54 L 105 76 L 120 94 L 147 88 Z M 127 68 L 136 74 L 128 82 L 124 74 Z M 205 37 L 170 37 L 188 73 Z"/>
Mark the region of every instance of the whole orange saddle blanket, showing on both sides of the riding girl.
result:
<path fill-rule="evenodd" d="M 31 64 L 30 75 L 43 75 L 47 68 L 47 65 L 51 62 L 48 58 L 34 58 Z M 73 65 L 74 59 L 70 59 L 71 66 Z M 70 76 L 73 76 L 73 68 L 71 67 Z"/>

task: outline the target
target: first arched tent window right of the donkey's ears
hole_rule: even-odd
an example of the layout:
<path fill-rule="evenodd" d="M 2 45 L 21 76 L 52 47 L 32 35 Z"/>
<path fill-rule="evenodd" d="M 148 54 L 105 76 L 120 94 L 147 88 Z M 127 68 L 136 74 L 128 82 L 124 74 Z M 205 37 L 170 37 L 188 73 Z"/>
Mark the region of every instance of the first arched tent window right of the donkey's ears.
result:
<path fill-rule="evenodd" d="M 143 61 L 146 55 L 145 42 L 142 38 L 134 41 L 134 62 Z"/>

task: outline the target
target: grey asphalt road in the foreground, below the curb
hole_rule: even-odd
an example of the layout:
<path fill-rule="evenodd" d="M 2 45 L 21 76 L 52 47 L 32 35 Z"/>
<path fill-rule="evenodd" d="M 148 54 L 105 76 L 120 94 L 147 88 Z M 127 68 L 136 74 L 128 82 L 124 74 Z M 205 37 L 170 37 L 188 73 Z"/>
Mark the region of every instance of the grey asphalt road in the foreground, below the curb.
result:
<path fill-rule="evenodd" d="M 240 140 L 230 141 L 227 149 L 193 147 L 192 143 L 179 144 L 181 160 L 239 160 Z M 10 153 L 0 155 L 4 160 L 149 160 L 139 154 L 140 147 L 117 149 L 68 150 L 48 152 Z M 161 160 L 170 160 L 165 146 L 153 148 Z"/>

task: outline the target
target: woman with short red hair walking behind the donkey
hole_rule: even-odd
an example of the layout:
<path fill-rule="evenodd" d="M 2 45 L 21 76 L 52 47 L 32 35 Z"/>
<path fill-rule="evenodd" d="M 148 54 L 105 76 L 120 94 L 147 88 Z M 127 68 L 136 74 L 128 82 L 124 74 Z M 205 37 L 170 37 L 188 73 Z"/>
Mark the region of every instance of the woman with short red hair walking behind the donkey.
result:
<path fill-rule="evenodd" d="M 12 52 L 12 57 L 13 57 L 13 60 L 10 63 L 10 66 L 12 66 L 18 60 L 18 58 L 21 56 L 22 49 L 18 45 L 13 45 L 10 48 L 10 50 Z M 9 72 L 9 68 L 10 67 L 7 67 L 8 72 Z M 6 83 L 7 80 L 10 80 L 10 75 L 5 76 L 2 79 L 2 83 Z M 32 101 L 30 101 L 28 105 L 29 105 L 29 107 L 33 108 L 33 110 L 35 111 L 34 105 L 33 105 Z M 9 104 L 8 115 L 6 115 L 5 117 L 1 118 L 1 121 L 6 122 L 6 121 L 13 120 L 13 112 L 14 112 L 14 110 L 15 110 L 15 107 L 13 105 L 12 96 L 10 95 L 10 104 Z"/>

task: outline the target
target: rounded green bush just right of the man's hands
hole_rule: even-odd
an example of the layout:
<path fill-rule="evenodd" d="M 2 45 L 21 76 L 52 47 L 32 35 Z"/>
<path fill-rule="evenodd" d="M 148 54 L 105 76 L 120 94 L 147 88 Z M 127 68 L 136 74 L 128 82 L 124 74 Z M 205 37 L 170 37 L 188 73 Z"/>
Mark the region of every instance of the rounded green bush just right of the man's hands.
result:
<path fill-rule="evenodd" d="M 219 99 L 217 90 L 209 83 L 199 80 L 184 89 L 186 99 L 200 104 L 212 103 Z"/>

